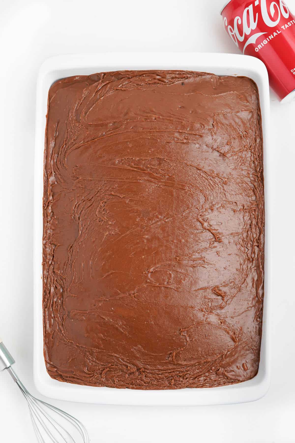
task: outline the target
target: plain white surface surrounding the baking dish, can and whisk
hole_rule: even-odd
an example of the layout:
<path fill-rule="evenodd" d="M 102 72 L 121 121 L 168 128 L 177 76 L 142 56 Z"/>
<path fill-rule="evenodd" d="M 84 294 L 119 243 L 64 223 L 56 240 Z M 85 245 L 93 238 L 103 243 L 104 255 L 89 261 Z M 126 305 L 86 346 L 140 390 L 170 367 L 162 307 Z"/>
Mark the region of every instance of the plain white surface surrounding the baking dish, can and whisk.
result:
<path fill-rule="evenodd" d="M 223 0 L 0 1 L 0 334 L 15 370 L 32 375 L 32 214 L 35 90 L 51 55 L 103 51 L 237 52 L 222 28 Z M 295 10 L 295 0 L 288 0 Z M 295 442 L 295 102 L 272 95 L 276 148 L 272 383 L 255 403 L 134 408 L 53 403 L 77 416 L 92 443 Z M 27 407 L 0 373 L 0 441 L 34 443 Z"/>

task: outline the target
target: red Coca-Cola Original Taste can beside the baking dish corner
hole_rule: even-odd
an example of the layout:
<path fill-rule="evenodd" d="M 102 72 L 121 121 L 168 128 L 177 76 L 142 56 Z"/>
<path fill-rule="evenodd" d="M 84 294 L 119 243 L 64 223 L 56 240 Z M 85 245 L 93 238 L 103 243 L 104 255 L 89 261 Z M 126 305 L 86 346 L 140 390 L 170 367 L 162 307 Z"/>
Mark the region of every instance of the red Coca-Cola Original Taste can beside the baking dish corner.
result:
<path fill-rule="evenodd" d="M 295 97 L 295 16 L 286 3 L 231 0 L 221 15 L 226 32 L 242 53 L 264 62 L 280 100 Z"/>

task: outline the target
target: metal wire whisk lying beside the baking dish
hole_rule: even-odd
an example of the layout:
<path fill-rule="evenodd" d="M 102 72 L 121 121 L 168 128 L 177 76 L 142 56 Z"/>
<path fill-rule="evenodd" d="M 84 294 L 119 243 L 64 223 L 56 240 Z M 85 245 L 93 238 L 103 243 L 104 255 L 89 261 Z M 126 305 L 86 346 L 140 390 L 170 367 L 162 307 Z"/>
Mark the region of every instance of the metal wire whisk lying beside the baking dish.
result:
<path fill-rule="evenodd" d="M 76 418 L 45 401 L 38 400 L 27 391 L 12 365 L 14 359 L 0 339 L 0 371 L 6 369 L 27 400 L 35 434 L 39 443 L 89 443 L 84 425 Z"/>

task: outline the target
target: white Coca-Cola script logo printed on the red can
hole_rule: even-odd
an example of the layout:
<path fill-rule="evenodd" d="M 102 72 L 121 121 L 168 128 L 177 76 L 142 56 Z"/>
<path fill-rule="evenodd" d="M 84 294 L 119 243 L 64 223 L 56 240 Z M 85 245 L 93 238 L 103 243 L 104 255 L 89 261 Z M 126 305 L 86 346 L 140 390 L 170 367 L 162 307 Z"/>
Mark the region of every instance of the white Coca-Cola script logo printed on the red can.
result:
<path fill-rule="evenodd" d="M 265 25 L 272 28 L 280 23 L 282 17 L 285 19 L 289 18 L 290 12 L 284 0 L 272 1 L 271 3 L 270 0 L 255 0 L 250 6 L 244 9 L 242 17 L 235 17 L 234 26 L 228 25 L 226 17 L 223 19 L 223 25 L 233 42 L 237 46 L 239 46 L 238 42 L 245 42 L 243 54 L 245 53 L 247 46 L 256 43 L 258 37 L 266 34 L 266 32 L 257 32 L 247 39 L 247 37 L 257 28 L 260 16 Z"/>

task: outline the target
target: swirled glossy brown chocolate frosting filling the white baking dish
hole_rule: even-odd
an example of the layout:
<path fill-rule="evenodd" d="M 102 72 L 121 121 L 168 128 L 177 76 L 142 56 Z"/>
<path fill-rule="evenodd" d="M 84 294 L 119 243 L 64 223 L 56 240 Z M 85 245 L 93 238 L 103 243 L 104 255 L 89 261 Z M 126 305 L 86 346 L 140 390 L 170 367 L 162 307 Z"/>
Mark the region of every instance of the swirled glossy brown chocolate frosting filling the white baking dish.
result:
<path fill-rule="evenodd" d="M 160 70 L 57 81 L 43 216 L 51 377 L 179 389 L 257 374 L 264 185 L 252 80 Z"/>

